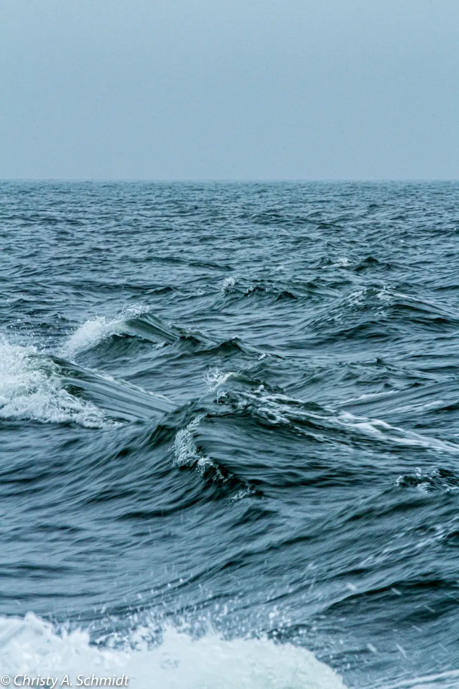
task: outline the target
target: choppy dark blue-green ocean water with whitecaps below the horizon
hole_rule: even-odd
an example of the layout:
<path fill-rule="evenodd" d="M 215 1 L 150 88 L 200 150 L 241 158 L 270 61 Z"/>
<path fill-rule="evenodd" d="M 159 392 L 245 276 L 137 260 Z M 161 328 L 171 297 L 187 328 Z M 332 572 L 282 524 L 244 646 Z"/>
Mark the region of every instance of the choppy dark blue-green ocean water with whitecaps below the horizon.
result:
<path fill-rule="evenodd" d="M 459 687 L 459 183 L 0 183 L 0 674 Z"/>

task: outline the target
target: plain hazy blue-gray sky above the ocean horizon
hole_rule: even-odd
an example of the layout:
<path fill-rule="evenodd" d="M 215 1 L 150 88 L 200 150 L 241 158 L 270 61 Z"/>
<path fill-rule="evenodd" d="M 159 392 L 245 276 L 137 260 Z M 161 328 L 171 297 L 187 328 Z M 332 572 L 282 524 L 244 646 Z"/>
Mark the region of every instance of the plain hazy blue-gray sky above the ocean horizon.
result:
<path fill-rule="evenodd" d="M 459 178 L 459 0 L 0 0 L 0 177 Z"/>

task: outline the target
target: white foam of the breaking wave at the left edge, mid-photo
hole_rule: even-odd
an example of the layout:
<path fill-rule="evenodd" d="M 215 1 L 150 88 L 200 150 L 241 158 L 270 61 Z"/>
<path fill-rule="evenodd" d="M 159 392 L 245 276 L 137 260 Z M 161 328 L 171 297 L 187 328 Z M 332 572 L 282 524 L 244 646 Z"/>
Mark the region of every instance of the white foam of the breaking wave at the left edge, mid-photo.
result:
<path fill-rule="evenodd" d="M 0 418 L 74 422 L 92 428 L 110 424 L 94 404 L 63 389 L 50 358 L 39 355 L 35 347 L 10 345 L 1 337 Z"/>

